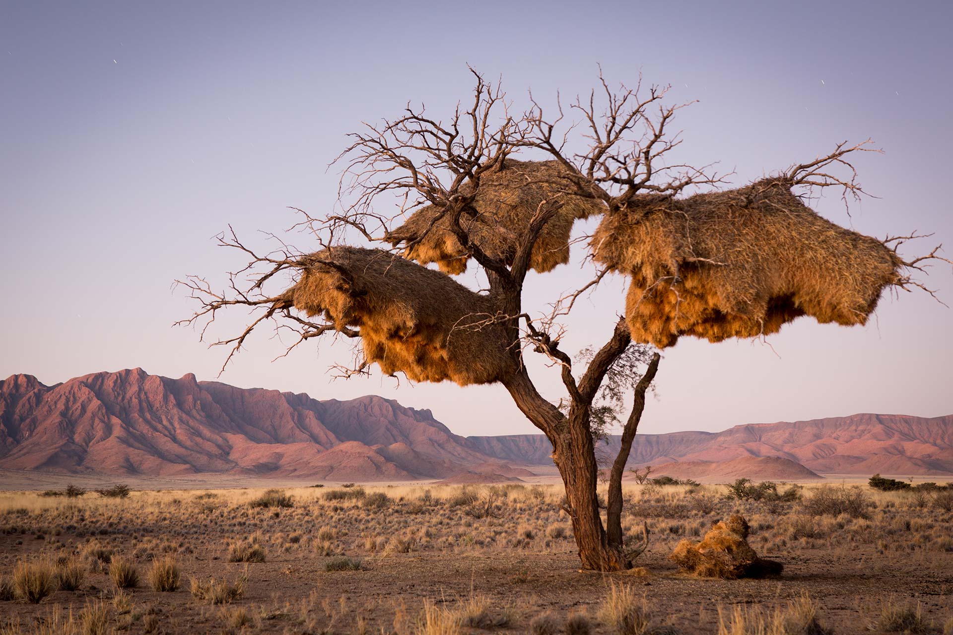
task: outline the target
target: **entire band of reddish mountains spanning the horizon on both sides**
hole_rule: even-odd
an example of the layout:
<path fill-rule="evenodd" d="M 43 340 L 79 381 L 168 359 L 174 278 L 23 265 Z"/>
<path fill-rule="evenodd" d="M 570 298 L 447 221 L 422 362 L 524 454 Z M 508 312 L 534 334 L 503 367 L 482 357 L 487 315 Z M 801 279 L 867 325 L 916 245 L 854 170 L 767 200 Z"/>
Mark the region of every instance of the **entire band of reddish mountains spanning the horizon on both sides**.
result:
<path fill-rule="evenodd" d="M 607 455 L 617 449 L 618 437 L 599 447 Z M 0 468 L 5 469 L 503 482 L 532 478 L 534 466 L 552 466 L 551 451 L 541 434 L 464 438 L 430 410 L 373 395 L 318 401 L 198 382 L 192 374 L 160 377 L 141 368 L 93 373 L 55 386 L 30 375 L 0 383 Z M 732 462 L 769 457 L 784 461 L 737 466 L 754 470 L 743 475 L 755 479 L 781 479 L 772 474 L 795 474 L 799 467 L 801 476 L 792 478 L 811 478 L 813 472 L 949 474 L 953 415 L 858 414 L 723 432 L 644 434 L 636 438 L 629 465 L 678 463 L 666 468 L 699 476 L 707 469 L 720 474 L 715 478 L 727 478 L 735 469 Z"/>

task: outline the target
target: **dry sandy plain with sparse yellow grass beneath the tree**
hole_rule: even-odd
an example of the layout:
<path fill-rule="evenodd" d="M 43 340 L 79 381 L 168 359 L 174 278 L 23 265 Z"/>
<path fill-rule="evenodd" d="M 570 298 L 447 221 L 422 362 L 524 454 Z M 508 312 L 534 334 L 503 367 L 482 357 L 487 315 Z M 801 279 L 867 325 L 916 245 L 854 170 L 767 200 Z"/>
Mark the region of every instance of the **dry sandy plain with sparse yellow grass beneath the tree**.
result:
<path fill-rule="evenodd" d="M 953 514 L 929 502 L 916 507 L 900 494 L 867 492 L 869 518 L 851 519 L 809 518 L 800 503 L 772 513 L 728 501 L 716 487 L 629 488 L 627 529 L 635 533 L 647 518 L 653 536 L 636 563 L 644 570 L 601 574 L 578 570 L 558 487 L 499 487 L 497 513 L 482 519 L 454 502 L 461 491 L 455 486 L 368 487 L 353 500 L 328 500 L 329 491 L 288 489 L 288 508 L 250 506 L 258 489 L 133 492 L 117 500 L 2 494 L 0 578 L 9 580 L 17 562 L 57 558 L 83 563 L 87 573 L 79 590 L 55 591 L 36 605 L 0 602 L 0 625 L 18 622 L 22 632 L 36 632 L 50 625 L 56 607 L 79 616 L 99 602 L 109 628 L 130 633 L 522 633 L 534 632 L 546 613 L 558 625 L 582 613 L 591 632 L 613 633 L 618 629 L 600 613 L 614 585 L 644 602 L 655 625 L 670 627 L 656 632 L 717 633 L 736 606 L 767 616 L 805 594 L 836 633 L 891 632 L 879 627 L 885 603 L 919 610 L 932 625 L 927 632 L 942 633 L 953 620 Z M 387 497 L 384 506 L 367 502 L 375 492 Z M 811 495 L 805 489 L 805 500 Z M 717 508 L 687 510 L 699 496 Z M 780 577 L 698 579 L 668 559 L 681 538 L 737 511 L 752 523 L 752 546 L 784 564 Z M 812 537 L 798 535 L 799 519 L 812 524 Z M 231 547 L 250 537 L 265 562 L 228 562 Z M 140 584 L 117 591 L 111 565 L 94 562 L 97 546 L 132 559 Z M 156 592 L 148 571 L 165 555 L 174 557 L 182 585 Z M 359 569 L 327 570 L 341 557 L 359 561 Z M 233 581 L 243 573 L 247 591 L 232 604 L 210 605 L 190 592 L 191 578 Z M 489 617 L 485 627 L 428 630 L 427 605 L 457 616 L 480 605 Z"/>

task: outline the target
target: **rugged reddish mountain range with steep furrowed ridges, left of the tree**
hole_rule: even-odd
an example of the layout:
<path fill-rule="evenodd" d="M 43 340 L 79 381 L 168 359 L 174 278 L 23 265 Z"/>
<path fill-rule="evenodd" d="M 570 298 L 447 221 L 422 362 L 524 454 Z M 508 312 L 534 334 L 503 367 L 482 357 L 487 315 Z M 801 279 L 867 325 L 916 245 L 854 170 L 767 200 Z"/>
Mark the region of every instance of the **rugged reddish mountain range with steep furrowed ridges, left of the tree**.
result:
<path fill-rule="evenodd" d="M 512 470 L 475 450 L 430 410 L 375 396 L 317 401 L 198 382 L 193 374 L 159 377 L 141 368 L 51 387 L 30 375 L 5 380 L 0 468 L 335 481 L 508 476 Z"/>

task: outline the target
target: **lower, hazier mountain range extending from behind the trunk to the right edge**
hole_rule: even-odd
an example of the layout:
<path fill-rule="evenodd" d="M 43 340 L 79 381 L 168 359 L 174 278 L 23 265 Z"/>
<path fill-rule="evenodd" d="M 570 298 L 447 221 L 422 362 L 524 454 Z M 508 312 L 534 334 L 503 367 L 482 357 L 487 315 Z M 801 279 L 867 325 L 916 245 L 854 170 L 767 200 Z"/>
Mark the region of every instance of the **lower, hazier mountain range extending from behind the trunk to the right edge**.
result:
<path fill-rule="evenodd" d="M 552 451 L 537 434 L 468 437 L 476 450 L 530 465 L 551 465 Z M 599 450 L 615 456 L 618 437 Z M 794 423 L 749 424 L 721 432 L 639 434 L 631 466 L 674 462 L 726 462 L 781 457 L 821 474 L 953 473 L 953 415 L 923 418 L 855 414 Z"/>

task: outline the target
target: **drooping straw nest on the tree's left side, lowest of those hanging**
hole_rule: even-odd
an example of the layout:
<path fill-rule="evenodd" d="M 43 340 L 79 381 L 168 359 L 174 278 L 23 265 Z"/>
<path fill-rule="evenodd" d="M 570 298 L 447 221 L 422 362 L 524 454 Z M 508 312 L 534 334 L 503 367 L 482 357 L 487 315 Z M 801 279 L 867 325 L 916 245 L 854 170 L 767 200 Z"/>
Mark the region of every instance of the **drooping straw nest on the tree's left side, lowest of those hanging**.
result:
<path fill-rule="evenodd" d="M 367 362 L 417 382 L 491 384 L 515 367 L 491 299 L 381 249 L 309 256 L 283 294 L 294 308 L 359 329 Z"/>

